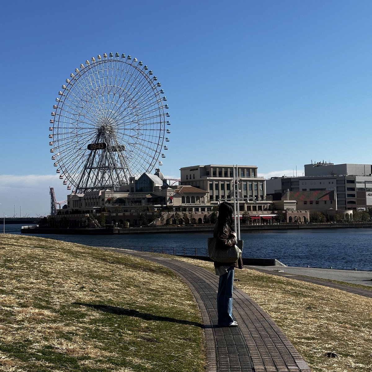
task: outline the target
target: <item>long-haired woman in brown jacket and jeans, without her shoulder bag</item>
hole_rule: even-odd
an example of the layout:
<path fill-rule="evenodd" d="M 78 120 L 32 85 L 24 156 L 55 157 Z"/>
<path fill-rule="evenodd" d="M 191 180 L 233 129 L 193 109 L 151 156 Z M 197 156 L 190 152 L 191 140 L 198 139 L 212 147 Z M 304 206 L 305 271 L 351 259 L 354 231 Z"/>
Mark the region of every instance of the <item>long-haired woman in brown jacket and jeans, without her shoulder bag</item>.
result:
<path fill-rule="evenodd" d="M 232 247 L 237 243 L 236 234 L 232 228 L 233 208 L 230 203 L 222 202 L 218 207 L 217 222 L 213 236 L 217 244 Z M 218 325 L 221 327 L 237 327 L 238 323 L 232 317 L 232 285 L 234 283 L 234 268 L 243 269 L 241 257 L 232 263 L 214 263 L 216 275 L 219 275 L 217 293 Z"/>

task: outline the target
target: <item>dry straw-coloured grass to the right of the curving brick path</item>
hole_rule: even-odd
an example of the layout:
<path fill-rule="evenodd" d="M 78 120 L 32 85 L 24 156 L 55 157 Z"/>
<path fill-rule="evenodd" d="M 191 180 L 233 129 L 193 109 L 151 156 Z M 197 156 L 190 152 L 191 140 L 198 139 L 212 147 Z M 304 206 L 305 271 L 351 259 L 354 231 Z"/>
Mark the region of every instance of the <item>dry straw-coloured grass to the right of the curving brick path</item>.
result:
<path fill-rule="evenodd" d="M 211 262 L 178 257 L 214 272 Z M 234 285 L 284 331 L 313 372 L 372 371 L 372 299 L 256 270 Z M 337 357 L 327 357 L 334 352 Z"/>

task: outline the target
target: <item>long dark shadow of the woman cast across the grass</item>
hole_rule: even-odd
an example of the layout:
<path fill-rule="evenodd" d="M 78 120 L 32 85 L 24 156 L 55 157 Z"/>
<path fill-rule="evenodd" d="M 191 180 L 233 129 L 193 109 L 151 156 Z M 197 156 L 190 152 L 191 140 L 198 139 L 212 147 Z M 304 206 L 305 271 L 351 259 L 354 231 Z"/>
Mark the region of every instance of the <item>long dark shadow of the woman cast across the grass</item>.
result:
<path fill-rule="evenodd" d="M 137 318 L 142 318 L 144 320 L 159 320 L 163 322 L 173 322 L 173 323 L 193 325 L 195 327 L 200 327 L 200 328 L 206 328 L 201 323 L 190 322 L 188 320 L 183 320 L 183 319 L 161 317 L 159 315 L 148 314 L 147 312 L 141 312 L 141 311 L 132 310 L 132 309 L 124 309 L 122 307 L 109 306 L 109 305 L 84 304 L 83 302 L 73 302 L 73 305 L 91 307 L 93 309 L 103 311 L 103 312 L 109 312 L 111 314 L 128 315 L 129 317 L 137 317 Z"/>

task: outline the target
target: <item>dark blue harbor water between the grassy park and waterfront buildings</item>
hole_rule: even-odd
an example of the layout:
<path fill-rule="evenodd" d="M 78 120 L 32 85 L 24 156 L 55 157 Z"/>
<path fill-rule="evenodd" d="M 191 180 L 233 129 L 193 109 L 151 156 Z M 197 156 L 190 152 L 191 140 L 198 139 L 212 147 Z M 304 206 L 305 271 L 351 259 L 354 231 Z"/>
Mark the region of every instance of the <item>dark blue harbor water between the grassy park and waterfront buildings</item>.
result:
<path fill-rule="evenodd" d="M 5 232 L 20 234 L 20 228 L 21 225 L 5 225 Z M 205 256 L 206 241 L 211 233 L 31 235 L 89 246 L 142 247 Z M 241 234 L 241 238 L 244 240 L 243 257 L 278 259 L 288 266 L 372 270 L 371 228 L 251 231 Z"/>

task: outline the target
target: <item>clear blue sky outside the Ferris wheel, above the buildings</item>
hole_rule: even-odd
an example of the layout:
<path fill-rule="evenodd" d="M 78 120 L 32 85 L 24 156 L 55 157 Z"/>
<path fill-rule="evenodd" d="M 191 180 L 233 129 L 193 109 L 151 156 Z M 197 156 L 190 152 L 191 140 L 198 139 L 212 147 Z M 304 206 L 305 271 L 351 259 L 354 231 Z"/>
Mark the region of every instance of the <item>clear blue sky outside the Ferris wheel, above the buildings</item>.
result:
<path fill-rule="evenodd" d="M 103 5 L 104 4 L 104 5 Z M 372 2 L 12 1 L 0 5 L 0 215 L 45 215 L 66 186 L 49 153 L 55 97 L 85 60 L 131 54 L 171 113 L 161 170 L 371 163 Z"/>

